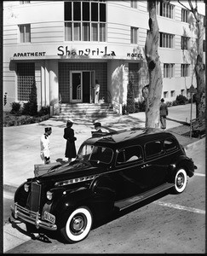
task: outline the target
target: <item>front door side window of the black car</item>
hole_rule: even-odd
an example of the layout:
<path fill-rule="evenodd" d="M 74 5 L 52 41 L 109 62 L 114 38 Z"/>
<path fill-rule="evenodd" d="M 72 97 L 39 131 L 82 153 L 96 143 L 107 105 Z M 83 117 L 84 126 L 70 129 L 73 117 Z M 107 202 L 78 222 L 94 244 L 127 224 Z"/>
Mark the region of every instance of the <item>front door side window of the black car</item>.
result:
<path fill-rule="evenodd" d="M 117 165 L 142 160 L 142 151 L 140 146 L 122 148 L 118 151 Z"/>

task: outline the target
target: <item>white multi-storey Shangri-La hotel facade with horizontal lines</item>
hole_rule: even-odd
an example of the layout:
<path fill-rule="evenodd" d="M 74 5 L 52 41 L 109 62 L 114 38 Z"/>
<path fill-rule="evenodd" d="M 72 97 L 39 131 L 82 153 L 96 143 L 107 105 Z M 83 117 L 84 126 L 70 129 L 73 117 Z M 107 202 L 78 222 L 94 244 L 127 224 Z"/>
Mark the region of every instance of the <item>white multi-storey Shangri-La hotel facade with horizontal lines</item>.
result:
<path fill-rule="evenodd" d="M 177 1 L 158 2 L 157 15 L 162 97 L 173 102 L 196 87 L 190 53 L 197 36 Z M 3 1 L 4 109 L 27 102 L 34 79 L 38 109 L 60 98 L 92 104 L 97 79 L 101 102 L 121 113 L 129 81 L 136 102 L 149 82 L 147 29 L 147 1 Z"/>

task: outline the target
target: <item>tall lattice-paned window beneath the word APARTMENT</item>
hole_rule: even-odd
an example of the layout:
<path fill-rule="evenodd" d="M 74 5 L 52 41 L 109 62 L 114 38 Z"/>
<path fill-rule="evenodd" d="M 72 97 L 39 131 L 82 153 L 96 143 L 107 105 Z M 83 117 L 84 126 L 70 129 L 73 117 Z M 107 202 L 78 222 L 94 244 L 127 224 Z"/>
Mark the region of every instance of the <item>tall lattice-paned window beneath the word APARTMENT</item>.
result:
<path fill-rule="evenodd" d="M 18 101 L 27 102 L 35 79 L 34 63 L 17 63 L 17 96 Z"/>

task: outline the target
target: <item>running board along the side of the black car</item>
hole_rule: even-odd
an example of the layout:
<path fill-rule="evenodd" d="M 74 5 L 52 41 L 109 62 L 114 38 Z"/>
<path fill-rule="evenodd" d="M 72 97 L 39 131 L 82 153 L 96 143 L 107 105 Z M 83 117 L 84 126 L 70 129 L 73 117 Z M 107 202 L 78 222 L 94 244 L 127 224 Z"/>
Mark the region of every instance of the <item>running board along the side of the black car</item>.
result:
<path fill-rule="evenodd" d="M 164 190 L 170 189 L 174 187 L 174 183 L 164 183 L 161 186 L 158 186 L 154 189 L 151 189 L 147 192 L 141 193 L 140 195 L 135 195 L 133 197 L 129 197 L 128 199 L 116 201 L 114 204 L 114 207 L 118 207 L 119 211 L 124 210 L 127 207 L 131 207 L 135 205 L 138 202 L 144 201 L 147 198 L 151 197 L 152 195 L 157 195 L 160 192 L 163 192 Z"/>

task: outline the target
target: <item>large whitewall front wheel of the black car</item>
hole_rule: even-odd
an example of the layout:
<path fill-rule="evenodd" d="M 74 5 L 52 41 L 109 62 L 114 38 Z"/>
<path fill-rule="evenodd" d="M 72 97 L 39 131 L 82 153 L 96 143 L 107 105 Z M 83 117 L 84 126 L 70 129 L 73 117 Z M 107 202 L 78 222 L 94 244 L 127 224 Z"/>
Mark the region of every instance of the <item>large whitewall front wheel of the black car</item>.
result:
<path fill-rule="evenodd" d="M 66 218 L 66 223 L 60 233 L 70 243 L 82 241 L 89 235 L 92 222 L 93 217 L 89 208 L 78 207 Z"/>

